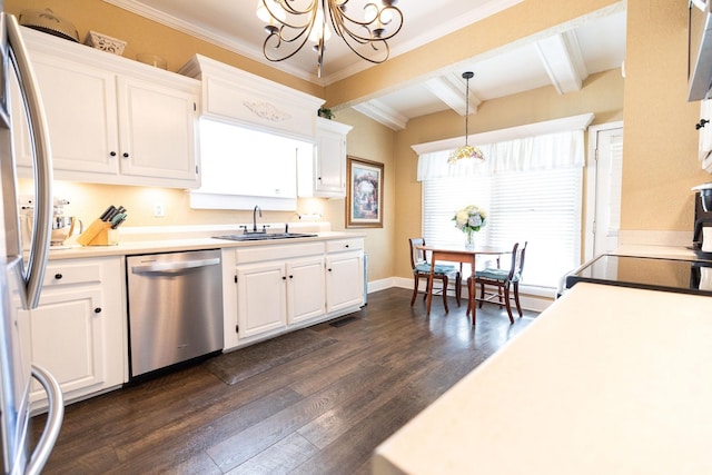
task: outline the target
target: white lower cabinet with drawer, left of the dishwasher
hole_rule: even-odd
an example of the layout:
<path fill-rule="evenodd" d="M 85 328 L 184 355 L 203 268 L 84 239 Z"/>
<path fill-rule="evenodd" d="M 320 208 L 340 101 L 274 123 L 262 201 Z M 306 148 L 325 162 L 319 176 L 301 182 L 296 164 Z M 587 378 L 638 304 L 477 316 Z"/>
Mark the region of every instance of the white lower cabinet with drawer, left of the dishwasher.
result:
<path fill-rule="evenodd" d="M 66 402 L 126 382 L 122 276 L 121 257 L 50 261 L 38 308 L 21 310 L 26 358 L 57 378 Z M 37 382 L 30 398 L 47 406 Z"/>

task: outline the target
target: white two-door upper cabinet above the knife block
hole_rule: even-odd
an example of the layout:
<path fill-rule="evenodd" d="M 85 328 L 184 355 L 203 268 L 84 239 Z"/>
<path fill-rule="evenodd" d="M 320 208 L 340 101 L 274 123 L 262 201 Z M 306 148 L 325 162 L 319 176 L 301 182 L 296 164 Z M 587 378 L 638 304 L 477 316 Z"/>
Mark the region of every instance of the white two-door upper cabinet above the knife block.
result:
<path fill-rule="evenodd" d="M 199 186 L 199 81 L 34 30 L 23 29 L 23 36 L 48 117 L 56 178 Z M 12 102 L 13 118 L 24 120 L 20 101 Z M 18 122 L 13 129 L 18 162 L 28 166 L 27 129 Z"/>

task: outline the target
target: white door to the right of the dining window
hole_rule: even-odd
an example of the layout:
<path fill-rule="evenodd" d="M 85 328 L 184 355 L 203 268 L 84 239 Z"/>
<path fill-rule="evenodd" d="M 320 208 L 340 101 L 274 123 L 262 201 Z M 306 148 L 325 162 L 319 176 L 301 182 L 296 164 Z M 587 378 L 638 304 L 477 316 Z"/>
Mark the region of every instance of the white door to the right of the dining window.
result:
<path fill-rule="evenodd" d="M 619 247 L 623 127 L 620 122 L 592 130 L 590 136 L 593 147 L 591 157 L 594 159 L 590 160 L 589 172 L 587 214 L 591 232 L 586 234 L 590 240 L 586 243 L 586 259 L 613 251 Z"/>

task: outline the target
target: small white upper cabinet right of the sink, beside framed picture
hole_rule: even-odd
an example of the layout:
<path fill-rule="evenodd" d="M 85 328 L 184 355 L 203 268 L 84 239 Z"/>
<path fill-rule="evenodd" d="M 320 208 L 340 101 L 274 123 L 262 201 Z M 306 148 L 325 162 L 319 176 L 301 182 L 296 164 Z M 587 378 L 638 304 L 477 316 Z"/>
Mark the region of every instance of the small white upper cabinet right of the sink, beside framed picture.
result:
<path fill-rule="evenodd" d="M 313 157 L 299 157 L 300 197 L 343 198 L 346 196 L 346 136 L 353 128 L 317 117 Z"/>

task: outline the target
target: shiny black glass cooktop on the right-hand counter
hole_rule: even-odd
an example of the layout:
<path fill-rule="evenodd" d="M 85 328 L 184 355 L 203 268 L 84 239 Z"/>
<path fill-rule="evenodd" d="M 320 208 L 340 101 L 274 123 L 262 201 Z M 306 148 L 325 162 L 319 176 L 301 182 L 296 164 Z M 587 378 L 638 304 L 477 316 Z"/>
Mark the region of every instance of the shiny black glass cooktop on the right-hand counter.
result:
<path fill-rule="evenodd" d="M 566 288 L 582 281 L 712 296 L 712 261 L 606 254 L 568 274 Z"/>

